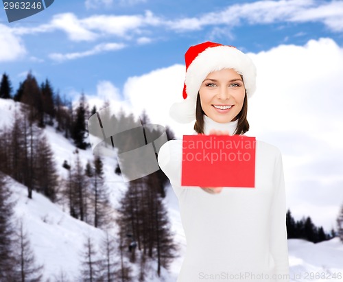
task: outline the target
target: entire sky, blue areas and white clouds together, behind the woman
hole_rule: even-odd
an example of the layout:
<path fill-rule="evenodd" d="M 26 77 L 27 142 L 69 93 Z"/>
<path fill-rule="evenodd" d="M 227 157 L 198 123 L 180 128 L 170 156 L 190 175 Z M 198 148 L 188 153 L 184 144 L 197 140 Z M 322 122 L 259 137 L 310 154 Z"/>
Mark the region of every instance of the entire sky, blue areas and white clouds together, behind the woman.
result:
<path fill-rule="evenodd" d="M 0 12 L 0 72 L 16 90 L 32 70 L 61 95 L 101 106 L 129 100 L 135 113 L 180 137 L 184 54 L 212 40 L 257 65 L 248 134 L 283 153 L 287 207 L 335 227 L 343 204 L 343 1 L 56 0 L 8 23 Z M 1 118 L 1 115 L 0 115 Z"/>

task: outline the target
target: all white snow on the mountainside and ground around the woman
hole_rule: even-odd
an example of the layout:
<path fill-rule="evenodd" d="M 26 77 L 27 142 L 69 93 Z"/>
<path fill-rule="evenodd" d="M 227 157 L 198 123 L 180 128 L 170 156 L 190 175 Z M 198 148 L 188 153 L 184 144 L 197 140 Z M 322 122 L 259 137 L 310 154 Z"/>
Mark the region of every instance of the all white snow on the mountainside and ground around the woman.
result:
<path fill-rule="evenodd" d="M 0 128 L 12 124 L 14 108 L 19 108 L 18 104 L 13 100 L 0 99 Z M 62 163 L 64 160 L 73 162 L 75 146 L 56 132 L 55 128 L 47 126 L 44 131 L 54 152 L 58 173 L 67 177 L 67 171 L 62 167 Z M 83 165 L 92 158 L 91 149 L 80 150 Z M 113 173 L 116 160 L 104 157 L 103 162 L 106 184 L 110 187 L 110 200 L 113 207 L 117 207 L 127 187 L 121 176 Z M 23 218 L 36 260 L 44 264 L 45 279 L 56 281 L 64 274 L 68 281 L 79 281 L 80 254 L 84 248 L 84 240 L 89 236 L 95 240 L 95 245 L 99 245 L 104 237 L 104 231 L 72 218 L 64 204 L 54 204 L 40 193 L 34 191 L 32 200 L 27 198 L 27 188 L 12 178 L 7 178 L 6 182 L 16 200 L 15 214 L 18 218 Z M 177 198 L 170 186 L 166 191 L 164 201 L 175 241 L 180 246 L 180 257 L 171 264 L 169 272 L 162 269 L 161 277 L 156 277 L 156 265 L 151 265 L 147 281 L 152 282 L 176 281 L 186 250 Z M 117 226 L 113 222 L 113 232 L 116 230 Z M 338 237 L 318 244 L 302 239 L 289 239 L 288 246 L 290 281 L 343 281 L 343 244 Z M 133 269 L 137 274 L 138 267 L 134 266 Z"/>

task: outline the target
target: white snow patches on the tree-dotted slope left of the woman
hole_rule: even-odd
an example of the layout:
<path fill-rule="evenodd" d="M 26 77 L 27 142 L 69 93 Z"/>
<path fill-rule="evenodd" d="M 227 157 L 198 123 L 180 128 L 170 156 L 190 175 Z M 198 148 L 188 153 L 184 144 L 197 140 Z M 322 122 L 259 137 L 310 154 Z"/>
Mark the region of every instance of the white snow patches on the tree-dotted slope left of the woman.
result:
<path fill-rule="evenodd" d="M 0 99 L 0 128 L 12 125 L 15 108 L 19 110 L 19 103 Z M 67 170 L 62 167 L 62 163 L 64 160 L 67 160 L 69 164 L 73 163 L 75 146 L 60 132 L 56 132 L 55 128 L 47 126 L 44 132 L 54 152 L 58 174 L 66 178 Z M 79 150 L 79 155 L 83 166 L 88 160 L 93 160 L 91 149 Z M 126 191 L 127 185 L 123 183 L 121 176 L 114 173 L 117 165 L 115 158 L 104 157 L 102 161 L 110 201 L 115 208 Z M 24 228 L 29 235 L 36 260 L 45 266 L 45 279 L 50 279 L 51 282 L 56 281 L 56 277 L 63 272 L 69 281 L 79 281 L 84 241 L 89 236 L 94 239 L 95 246 L 99 246 L 104 237 L 104 231 L 72 218 L 67 212 L 67 203 L 54 204 L 35 191 L 31 200 L 27 198 L 27 187 L 10 177 L 6 179 L 6 183 L 16 201 L 14 207 L 16 217 L 23 218 Z M 117 226 L 113 222 L 111 231 L 114 233 L 116 230 Z M 134 273 L 138 273 L 138 267 L 132 268 Z M 150 268 L 150 273 L 147 273 L 148 281 L 176 281 L 164 268 L 161 270 L 162 277 L 156 277 L 156 265 L 152 264 L 148 268 Z"/>

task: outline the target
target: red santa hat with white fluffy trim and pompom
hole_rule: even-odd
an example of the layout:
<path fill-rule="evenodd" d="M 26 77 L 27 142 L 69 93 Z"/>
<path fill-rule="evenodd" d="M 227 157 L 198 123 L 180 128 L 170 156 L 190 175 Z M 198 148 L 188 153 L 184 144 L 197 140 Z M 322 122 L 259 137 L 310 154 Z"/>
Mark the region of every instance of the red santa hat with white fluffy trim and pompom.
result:
<path fill-rule="evenodd" d="M 252 60 L 236 47 L 204 42 L 189 47 L 185 54 L 186 78 L 183 101 L 173 104 L 170 115 L 176 121 L 187 124 L 196 119 L 196 99 L 204 79 L 212 71 L 235 69 L 243 76 L 246 95 L 252 96 L 256 89 L 256 67 Z"/>

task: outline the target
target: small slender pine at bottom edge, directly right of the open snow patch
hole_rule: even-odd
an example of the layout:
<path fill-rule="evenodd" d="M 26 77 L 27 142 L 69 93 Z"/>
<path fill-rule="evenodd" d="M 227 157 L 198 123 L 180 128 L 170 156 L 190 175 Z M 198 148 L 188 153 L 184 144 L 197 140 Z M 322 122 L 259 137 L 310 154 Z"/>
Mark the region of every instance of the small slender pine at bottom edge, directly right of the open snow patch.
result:
<path fill-rule="evenodd" d="M 93 240 L 88 237 L 82 253 L 82 281 L 95 282 L 99 279 L 99 259 L 96 256 Z"/>

